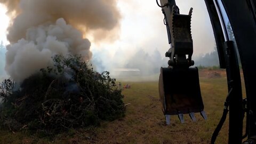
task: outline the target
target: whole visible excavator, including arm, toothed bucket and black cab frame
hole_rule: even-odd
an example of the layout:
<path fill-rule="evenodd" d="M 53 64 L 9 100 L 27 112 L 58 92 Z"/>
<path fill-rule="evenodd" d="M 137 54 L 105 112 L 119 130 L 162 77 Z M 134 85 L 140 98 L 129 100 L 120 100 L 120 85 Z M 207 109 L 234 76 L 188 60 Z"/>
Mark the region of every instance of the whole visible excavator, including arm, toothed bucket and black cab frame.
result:
<path fill-rule="evenodd" d="M 171 115 L 178 115 L 183 123 L 183 114 L 189 114 L 195 121 L 194 113 L 201 113 L 204 105 L 200 92 L 198 69 L 191 68 L 194 61 L 193 39 L 190 21 L 192 10 L 180 14 L 175 0 L 159 0 L 164 14 L 170 49 L 167 68 L 161 68 L 159 76 L 159 96 L 163 105 L 166 123 L 170 124 Z M 255 0 L 205 0 L 219 54 L 220 68 L 227 72 L 228 95 L 224 103 L 220 123 L 213 132 L 211 143 L 229 113 L 228 143 L 256 143 L 256 1 Z M 235 39 L 227 33 L 227 21 Z M 242 97 L 241 75 L 238 55 L 243 68 L 246 99 Z M 246 113 L 246 130 L 243 135 L 243 118 Z"/>

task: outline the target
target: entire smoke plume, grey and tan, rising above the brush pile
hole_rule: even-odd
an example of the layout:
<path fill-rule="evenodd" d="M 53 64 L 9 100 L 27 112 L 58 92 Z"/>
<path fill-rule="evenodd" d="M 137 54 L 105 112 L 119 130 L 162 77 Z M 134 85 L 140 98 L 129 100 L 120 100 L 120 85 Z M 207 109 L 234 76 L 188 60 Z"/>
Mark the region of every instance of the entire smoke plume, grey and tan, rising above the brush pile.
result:
<path fill-rule="evenodd" d="M 0 0 L 11 18 L 6 66 L 14 81 L 22 82 L 38 69 L 52 64 L 55 54 L 92 57 L 90 41 L 112 40 L 120 14 L 116 0 Z M 68 24 L 67 24 L 68 23 Z M 111 37 L 110 37 L 111 36 Z"/>

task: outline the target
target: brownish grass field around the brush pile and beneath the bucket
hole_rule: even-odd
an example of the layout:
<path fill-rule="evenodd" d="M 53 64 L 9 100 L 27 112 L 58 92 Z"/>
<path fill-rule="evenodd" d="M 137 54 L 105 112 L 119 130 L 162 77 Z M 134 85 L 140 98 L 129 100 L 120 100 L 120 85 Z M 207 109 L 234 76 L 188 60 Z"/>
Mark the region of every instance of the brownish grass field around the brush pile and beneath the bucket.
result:
<path fill-rule="evenodd" d="M 223 71 L 222 71 L 223 72 Z M 221 72 L 221 73 L 222 73 Z M 197 122 L 185 115 L 185 124 L 178 116 L 165 124 L 158 96 L 158 82 L 129 83 L 131 89 L 123 90 L 126 116 L 113 122 L 103 122 L 100 127 L 70 130 L 55 138 L 41 138 L 40 134 L 0 132 L 0 143 L 210 143 L 211 135 L 222 115 L 227 95 L 224 72 L 220 78 L 200 77 L 201 92 L 208 119 L 196 114 Z M 228 119 L 216 143 L 227 143 Z"/>

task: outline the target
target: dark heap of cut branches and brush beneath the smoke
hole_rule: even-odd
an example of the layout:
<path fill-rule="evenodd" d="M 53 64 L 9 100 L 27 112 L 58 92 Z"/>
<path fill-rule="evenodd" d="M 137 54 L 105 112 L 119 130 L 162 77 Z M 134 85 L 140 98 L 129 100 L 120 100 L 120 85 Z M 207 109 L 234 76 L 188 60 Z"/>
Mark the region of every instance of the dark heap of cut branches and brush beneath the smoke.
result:
<path fill-rule="evenodd" d="M 56 133 L 124 116 L 123 95 L 108 71 L 97 73 L 78 56 L 53 61 L 19 87 L 11 79 L 2 82 L 0 127 Z"/>

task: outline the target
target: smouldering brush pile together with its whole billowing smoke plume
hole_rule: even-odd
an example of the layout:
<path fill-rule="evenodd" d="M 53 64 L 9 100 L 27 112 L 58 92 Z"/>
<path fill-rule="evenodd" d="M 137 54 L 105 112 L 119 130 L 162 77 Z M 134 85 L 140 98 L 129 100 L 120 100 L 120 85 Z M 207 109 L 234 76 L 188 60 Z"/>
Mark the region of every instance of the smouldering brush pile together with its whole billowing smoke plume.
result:
<path fill-rule="evenodd" d="M 59 132 L 124 115 L 121 91 L 107 71 L 87 65 L 94 41 L 119 29 L 116 0 L 0 0 L 7 7 L 0 127 Z"/>

